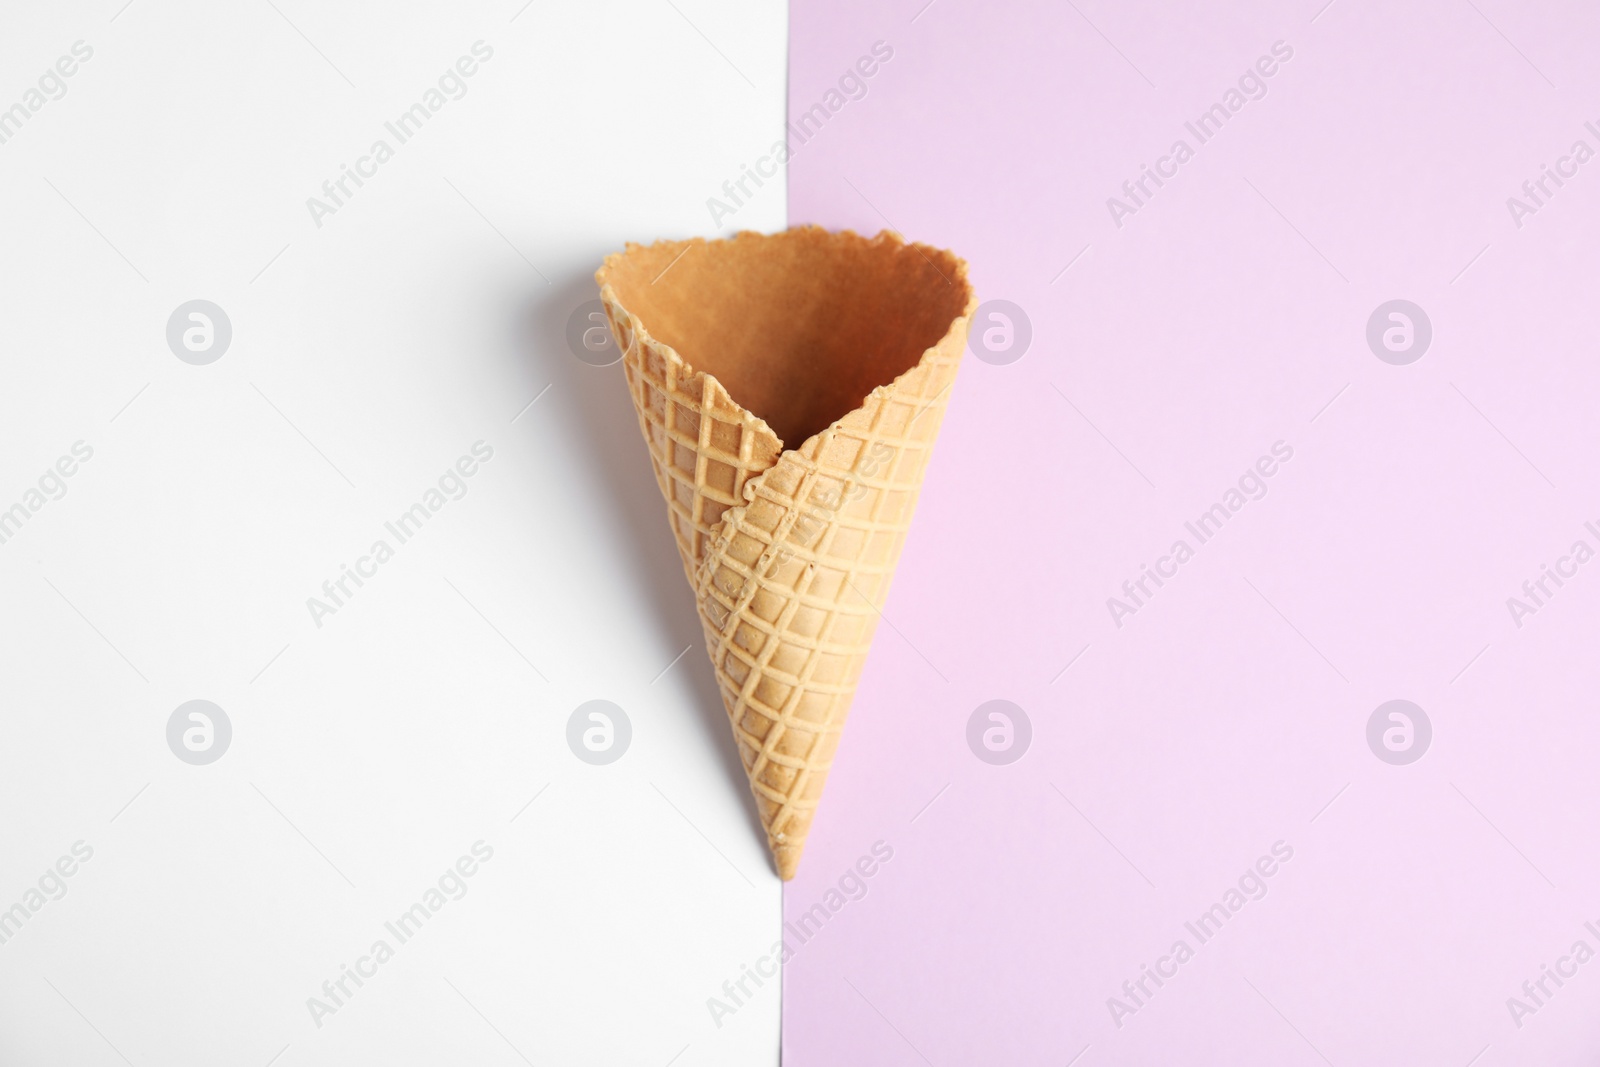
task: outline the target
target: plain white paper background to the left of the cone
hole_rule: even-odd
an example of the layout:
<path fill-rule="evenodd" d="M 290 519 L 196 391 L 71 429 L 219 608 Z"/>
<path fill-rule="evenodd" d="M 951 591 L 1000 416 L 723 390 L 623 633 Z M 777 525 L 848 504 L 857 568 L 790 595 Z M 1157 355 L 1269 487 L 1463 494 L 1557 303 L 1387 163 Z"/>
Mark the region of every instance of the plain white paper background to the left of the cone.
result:
<path fill-rule="evenodd" d="M 0 909 L 94 849 L 0 944 L 0 1064 L 773 1062 L 776 984 L 720 1029 L 706 998 L 779 883 L 621 368 L 563 330 L 606 251 L 712 232 L 781 136 L 784 5 L 274 2 L 0 21 L 0 109 L 93 48 L 0 144 L 0 510 L 93 448 L 0 544 Z M 315 227 L 477 40 L 466 96 Z M 738 221 L 782 227 L 782 179 Z M 234 331 L 206 366 L 165 336 L 197 298 Z M 565 739 L 595 697 L 634 728 L 610 766 Z M 232 721 L 210 766 L 166 745 L 190 699 Z M 478 840 L 467 894 L 314 1025 Z"/>

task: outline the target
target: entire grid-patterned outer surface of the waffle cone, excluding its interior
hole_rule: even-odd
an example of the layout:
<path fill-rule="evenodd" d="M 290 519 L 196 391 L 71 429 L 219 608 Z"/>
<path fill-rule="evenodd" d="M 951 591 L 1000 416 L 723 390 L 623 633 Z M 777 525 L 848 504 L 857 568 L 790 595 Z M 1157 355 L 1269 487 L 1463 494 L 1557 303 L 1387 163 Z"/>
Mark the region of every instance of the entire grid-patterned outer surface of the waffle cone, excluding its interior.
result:
<path fill-rule="evenodd" d="M 629 392 L 782 878 L 866 665 L 976 307 L 917 366 L 784 451 L 605 285 Z"/>

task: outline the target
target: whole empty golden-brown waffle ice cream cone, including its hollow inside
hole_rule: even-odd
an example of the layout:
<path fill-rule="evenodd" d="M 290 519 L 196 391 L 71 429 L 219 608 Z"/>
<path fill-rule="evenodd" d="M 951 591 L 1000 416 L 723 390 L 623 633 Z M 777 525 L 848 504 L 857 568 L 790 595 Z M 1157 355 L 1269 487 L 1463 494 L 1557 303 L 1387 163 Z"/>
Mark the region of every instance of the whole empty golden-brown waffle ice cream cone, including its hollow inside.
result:
<path fill-rule="evenodd" d="M 789 880 L 978 306 L 966 264 L 813 226 L 629 245 L 595 280 Z"/>

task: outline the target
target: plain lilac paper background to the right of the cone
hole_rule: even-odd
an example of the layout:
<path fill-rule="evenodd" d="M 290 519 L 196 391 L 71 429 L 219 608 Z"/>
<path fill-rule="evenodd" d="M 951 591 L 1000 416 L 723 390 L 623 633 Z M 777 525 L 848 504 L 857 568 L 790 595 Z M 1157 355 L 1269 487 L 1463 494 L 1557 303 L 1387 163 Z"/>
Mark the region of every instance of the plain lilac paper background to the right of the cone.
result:
<path fill-rule="evenodd" d="M 894 56 L 797 147 L 790 222 L 954 248 L 1034 341 L 952 397 L 787 918 L 894 857 L 790 934 L 786 1064 L 1592 1062 L 1600 960 L 1520 1029 L 1506 998 L 1600 949 L 1600 561 L 1522 629 L 1506 598 L 1597 545 L 1600 160 L 1522 229 L 1506 198 L 1600 149 L 1597 16 L 922 5 L 795 0 L 790 117 Z M 1269 94 L 1115 227 L 1275 40 Z M 1394 298 L 1434 325 L 1410 366 L 1365 342 Z M 1117 629 L 1277 440 L 1266 499 Z M 1011 766 L 965 742 L 994 697 L 1034 725 Z M 1365 739 L 1395 697 L 1434 725 L 1410 766 Z M 1278 840 L 1267 896 L 1114 1025 Z"/>

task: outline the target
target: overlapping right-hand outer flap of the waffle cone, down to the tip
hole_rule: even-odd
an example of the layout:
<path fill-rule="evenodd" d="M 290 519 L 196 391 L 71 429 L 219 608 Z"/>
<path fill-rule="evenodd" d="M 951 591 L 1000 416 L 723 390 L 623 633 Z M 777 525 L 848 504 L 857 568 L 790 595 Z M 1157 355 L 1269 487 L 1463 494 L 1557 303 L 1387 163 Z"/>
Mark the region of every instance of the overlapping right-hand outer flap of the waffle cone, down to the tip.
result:
<path fill-rule="evenodd" d="M 701 565 L 707 651 L 779 867 L 811 827 L 955 366 L 926 360 L 784 453 Z"/>

